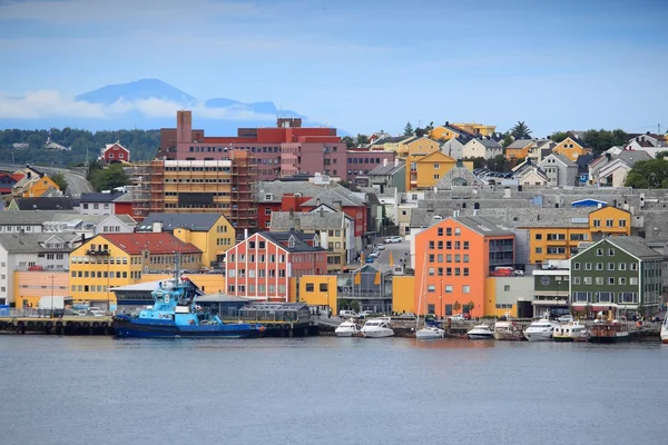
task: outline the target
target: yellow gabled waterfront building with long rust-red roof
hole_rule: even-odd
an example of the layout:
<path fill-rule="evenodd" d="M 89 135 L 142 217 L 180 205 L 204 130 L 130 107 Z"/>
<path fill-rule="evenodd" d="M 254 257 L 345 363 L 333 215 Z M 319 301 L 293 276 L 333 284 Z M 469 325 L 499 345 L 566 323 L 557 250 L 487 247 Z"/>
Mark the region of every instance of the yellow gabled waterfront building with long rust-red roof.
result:
<path fill-rule="evenodd" d="M 114 310 L 116 298 L 110 288 L 141 283 L 141 277 L 151 273 L 168 274 L 174 270 L 175 257 L 181 269 L 202 267 L 202 250 L 170 234 L 98 235 L 70 254 L 72 300 Z"/>

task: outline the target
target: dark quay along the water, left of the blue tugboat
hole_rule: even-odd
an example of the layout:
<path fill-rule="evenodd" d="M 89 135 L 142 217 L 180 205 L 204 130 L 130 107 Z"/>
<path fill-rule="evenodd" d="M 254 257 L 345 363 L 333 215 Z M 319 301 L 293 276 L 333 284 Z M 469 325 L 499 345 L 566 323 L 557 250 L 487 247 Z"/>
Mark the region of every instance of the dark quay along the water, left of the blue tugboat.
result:
<path fill-rule="evenodd" d="M 46 335 L 114 335 L 111 317 L 0 317 L 0 332 Z"/>

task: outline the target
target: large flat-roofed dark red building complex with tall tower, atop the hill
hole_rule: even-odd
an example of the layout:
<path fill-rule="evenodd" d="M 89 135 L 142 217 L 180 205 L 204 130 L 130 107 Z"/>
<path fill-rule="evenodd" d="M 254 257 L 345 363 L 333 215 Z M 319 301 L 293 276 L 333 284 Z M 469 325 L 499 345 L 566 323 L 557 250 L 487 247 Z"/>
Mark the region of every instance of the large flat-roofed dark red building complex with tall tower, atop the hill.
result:
<path fill-rule="evenodd" d="M 279 118 L 276 128 L 239 128 L 237 136 L 206 137 L 193 130 L 190 111 L 177 111 L 177 128 L 160 129 L 158 157 L 183 160 L 228 159 L 247 151 L 258 180 L 297 174 L 345 177 L 345 144 L 335 128 L 304 128 L 302 119 Z"/>

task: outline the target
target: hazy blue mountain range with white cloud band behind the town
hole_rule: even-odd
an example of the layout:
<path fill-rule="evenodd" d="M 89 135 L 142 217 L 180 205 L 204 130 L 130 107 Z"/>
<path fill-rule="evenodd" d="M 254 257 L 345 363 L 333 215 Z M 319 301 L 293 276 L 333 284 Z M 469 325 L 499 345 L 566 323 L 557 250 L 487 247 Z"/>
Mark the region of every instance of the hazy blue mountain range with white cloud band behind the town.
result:
<path fill-rule="evenodd" d="M 0 129 L 149 130 L 175 127 L 179 109 L 193 110 L 193 126 L 210 136 L 236 135 L 240 127 L 274 127 L 279 116 L 302 118 L 304 126 L 322 126 L 297 111 L 276 108 L 271 101 L 199 99 L 159 79 L 141 79 L 108 85 L 75 98 L 63 98 L 52 91 L 30 97 L 0 93 Z"/>

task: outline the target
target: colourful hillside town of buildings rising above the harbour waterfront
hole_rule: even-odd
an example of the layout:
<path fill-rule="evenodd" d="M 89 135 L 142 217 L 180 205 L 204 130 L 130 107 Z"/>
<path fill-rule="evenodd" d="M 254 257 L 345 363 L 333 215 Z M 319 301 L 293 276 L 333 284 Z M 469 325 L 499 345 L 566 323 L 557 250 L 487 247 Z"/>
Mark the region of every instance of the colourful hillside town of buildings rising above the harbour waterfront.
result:
<path fill-rule="evenodd" d="M 560 139 L 504 144 L 493 125 L 445 121 L 351 145 L 298 118 L 208 136 L 178 111 L 150 161 L 98 148 L 127 186 L 73 196 L 38 166 L 2 174 L 0 315 L 132 313 L 178 264 L 200 304 L 229 316 L 262 304 L 326 317 L 659 316 L 668 194 L 627 177 L 668 152 L 668 135 L 602 152 L 581 131 Z"/>

